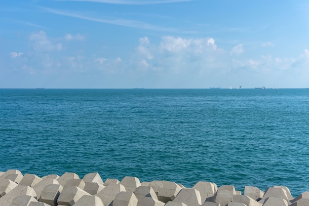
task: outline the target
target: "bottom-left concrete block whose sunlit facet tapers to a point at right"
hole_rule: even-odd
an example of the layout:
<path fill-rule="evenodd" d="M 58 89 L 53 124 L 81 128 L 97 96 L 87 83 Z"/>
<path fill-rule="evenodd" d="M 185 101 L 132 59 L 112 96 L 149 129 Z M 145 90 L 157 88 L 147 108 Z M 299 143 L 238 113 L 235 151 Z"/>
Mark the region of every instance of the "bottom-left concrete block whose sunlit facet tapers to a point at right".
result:
<path fill-rule="evenodd" d="M 57 203 L 59 205 L 73 206 L 82 196 L 89 195 L 77 186 L 66 185 L 60 193 Z"/>

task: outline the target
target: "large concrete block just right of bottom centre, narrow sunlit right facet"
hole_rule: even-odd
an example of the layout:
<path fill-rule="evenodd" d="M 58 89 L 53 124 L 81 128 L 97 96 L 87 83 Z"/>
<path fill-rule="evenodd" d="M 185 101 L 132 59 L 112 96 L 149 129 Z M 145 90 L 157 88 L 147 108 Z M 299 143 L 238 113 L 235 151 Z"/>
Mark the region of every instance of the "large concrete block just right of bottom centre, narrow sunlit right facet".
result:
<path fill-rule="evenodd" d="M 173 201 L 182 188 L 175 182 L 162 181 L 162 187 L 158 191 L 158 200 L 167 203 Z"/>

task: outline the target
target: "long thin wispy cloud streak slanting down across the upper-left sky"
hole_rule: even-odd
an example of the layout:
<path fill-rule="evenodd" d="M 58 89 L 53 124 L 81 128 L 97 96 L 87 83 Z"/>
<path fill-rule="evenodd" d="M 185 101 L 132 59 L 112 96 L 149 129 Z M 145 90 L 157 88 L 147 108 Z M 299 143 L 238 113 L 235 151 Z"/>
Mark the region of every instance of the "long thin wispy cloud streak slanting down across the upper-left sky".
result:
<path fill-rule="evenodd" d="M 138 28 L 138 29 L 149 29 L 149 30 L 158 30 L 158 31 L 165 31 L 165 32 L 177 32 L 175 29 L 172 29 L 172 28 L 159 27 L 159 26 L 147 24 L 141 21 L 127 20 L 127 19 L 103 19 L 103 18 L 84 16 L 84 15 L 80 15 L 77 13 L 60 11 L 56 9 L 46 8 L 46 7 L 40 7 L 40 8 L 50 13 L 63 15 L 63 16 L 70 16 L 70 17 L 84 19 L 88 21 L 101 22 L 101 23 L 106 23 L 106 24 L 114 24 L 114 25 L 125 26 L 125 27 L 133 27 L 133 28 Z"/>

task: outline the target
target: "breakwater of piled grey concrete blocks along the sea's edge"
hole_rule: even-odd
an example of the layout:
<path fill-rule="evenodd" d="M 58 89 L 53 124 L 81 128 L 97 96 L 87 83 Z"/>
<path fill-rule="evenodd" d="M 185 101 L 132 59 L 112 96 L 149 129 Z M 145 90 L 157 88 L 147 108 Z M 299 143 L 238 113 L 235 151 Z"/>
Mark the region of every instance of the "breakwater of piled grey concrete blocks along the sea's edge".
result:
<path fill-rule="evenodd" d="M 105 181 L 98 172 L 79 178 L 66 172 L 39 177 L 16 169 L 0 172 L 0 206 L 308 206 L 309 192 L 292 197 L 285 186 L 262 191 L 233 185 L 218 188 L 213 182 L 197 182 L 192 188 L 180 183 L 137 177 Z"/>

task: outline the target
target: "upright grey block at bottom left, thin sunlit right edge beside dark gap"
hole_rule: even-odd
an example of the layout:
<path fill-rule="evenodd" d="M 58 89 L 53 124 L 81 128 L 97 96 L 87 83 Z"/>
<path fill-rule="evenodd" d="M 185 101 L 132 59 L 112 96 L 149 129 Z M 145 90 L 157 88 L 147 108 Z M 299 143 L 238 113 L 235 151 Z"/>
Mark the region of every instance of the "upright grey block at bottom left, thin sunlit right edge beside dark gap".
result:
<path fill-rule="evenodd" d="M 62 192 L 63 187 L 59 184 L 49 184 L 42 190 L 39 202 L 46 203 L 50 206 L 57 206 L 57 200 Z"/>

